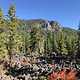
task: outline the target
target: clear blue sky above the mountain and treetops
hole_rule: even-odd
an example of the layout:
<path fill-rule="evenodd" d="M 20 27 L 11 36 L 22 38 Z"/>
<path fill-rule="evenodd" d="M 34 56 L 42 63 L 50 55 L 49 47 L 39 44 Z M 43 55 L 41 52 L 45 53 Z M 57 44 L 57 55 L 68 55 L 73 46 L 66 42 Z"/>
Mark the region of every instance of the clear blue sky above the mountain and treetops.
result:
<path fill-rule="evenodd" d="M 62 27 L 78 29 L 80 0 L 0 0 L 4 15 L 12 2 L 20 19 L 54 20 Z"/>

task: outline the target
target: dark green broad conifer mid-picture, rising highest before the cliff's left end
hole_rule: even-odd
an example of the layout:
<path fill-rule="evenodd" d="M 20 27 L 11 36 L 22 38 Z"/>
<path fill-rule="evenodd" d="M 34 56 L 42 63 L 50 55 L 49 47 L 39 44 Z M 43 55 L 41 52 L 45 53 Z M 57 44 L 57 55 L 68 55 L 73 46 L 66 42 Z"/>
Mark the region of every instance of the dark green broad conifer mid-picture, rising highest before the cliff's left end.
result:
<path fill-rule="evenodd" d="M 33 25 L 30 32 L 30 49 L 31 52 L 39 51 L 40 49 L 40 34 L 39 34 L 39 28 L 36 25 Z"/>

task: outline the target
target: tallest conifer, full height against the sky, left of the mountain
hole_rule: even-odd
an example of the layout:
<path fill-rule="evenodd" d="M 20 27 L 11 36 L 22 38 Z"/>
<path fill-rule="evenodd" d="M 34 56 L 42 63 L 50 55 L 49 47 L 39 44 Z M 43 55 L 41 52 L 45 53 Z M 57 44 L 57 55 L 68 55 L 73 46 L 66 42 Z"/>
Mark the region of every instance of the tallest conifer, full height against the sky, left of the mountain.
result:
<path fill-rule="evenodd" d="M 13 2 L 11 3 L 11 7 L 9 8 L 8 15 L 6 15 L 7 18 L 7 26 L 9 27 L 9 49 L 8 49 L 8 54 L 10 55 L 11 59 L 11 54 L 14 53 L 15 48 L 16 48 L 16 36 L 17 36 L 17 27 L 18 25 L 18 18 L 16 16 L 16 10 L 13 5 Z"/>

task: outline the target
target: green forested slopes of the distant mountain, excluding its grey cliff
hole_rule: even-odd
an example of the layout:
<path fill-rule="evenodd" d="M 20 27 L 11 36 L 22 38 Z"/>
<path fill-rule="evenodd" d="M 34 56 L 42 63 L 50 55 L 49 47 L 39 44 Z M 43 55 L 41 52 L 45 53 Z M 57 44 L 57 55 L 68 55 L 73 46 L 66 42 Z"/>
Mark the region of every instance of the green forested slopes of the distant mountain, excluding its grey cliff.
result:
<path fill-rule="evenodd" d="M 43 20 L 43 19 L 19 20 L 19 26 L 20 27 L 17 28 L 18 34 L 27 35 L 29 33 L 30 28 L 34 25 L 34 22 L 36 24 L 40 24 L 40 23 L 45 22 L 45 21 L 46 20 Z M 42 30 L 41 33 L 43 35 L 45 35 L 45 36 L 49 32 L 49 30 L 44 30 L 44 28 L 40 28 L 40 29 Z M 59 32 L 59 29 L 58 28 L 55 28 L 54 33 L 57 34 L 58 32 Z M 66 33 L 66 34 L 76 35 L 78 31 L 77 30 L 74 30 L 74 29 L 71 29 L 71 28 L 62 27 L 62 32 L 63 33 Z"/>

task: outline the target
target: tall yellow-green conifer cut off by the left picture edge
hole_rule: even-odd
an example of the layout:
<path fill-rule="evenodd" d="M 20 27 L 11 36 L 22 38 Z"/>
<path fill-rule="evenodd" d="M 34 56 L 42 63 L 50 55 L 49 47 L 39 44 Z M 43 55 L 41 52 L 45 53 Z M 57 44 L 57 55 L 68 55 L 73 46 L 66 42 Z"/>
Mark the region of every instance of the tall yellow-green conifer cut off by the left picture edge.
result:
<path fill-rule="evenodd" d="M 2 8 L 0 6 L 0 60 L 5 56 L 6 50 L 6 45 L 5 45 L 5 31 L 4 28 L 6 27 L 5 20 L 4 20 L 4 15 Z"/>

